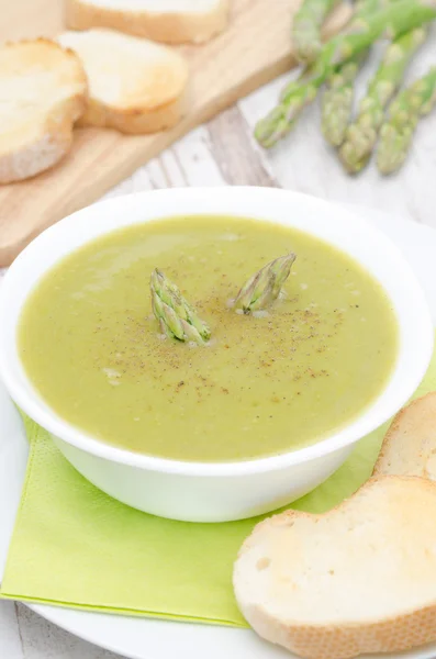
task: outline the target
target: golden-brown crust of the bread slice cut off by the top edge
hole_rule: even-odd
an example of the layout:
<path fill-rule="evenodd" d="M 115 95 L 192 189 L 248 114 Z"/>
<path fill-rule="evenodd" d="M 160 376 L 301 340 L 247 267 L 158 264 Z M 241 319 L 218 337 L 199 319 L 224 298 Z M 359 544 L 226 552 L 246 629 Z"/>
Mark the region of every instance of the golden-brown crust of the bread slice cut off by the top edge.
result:
<path fill-rule="evenodd" d="M 67 0 L 66 4 L 70 30 L 111 27 L 167 44 L 202 44 L 225 30 L 228 14 L 230 0 L 221 0 L 213 11 L 203 14 L 120 11 L 86 0 Z"/>

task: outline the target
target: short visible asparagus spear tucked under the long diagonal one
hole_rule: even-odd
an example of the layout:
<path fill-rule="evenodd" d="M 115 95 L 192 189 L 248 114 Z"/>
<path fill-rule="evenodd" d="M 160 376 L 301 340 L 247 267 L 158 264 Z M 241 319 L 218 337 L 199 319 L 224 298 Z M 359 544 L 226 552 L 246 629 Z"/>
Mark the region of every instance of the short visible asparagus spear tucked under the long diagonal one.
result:
<path fill-rule="evenodd" d="M 325 139 L 332 146 L 340 146 L 353 114 L 355 81 L 368 51 L 356 55 L 338 67 L 327 78 L 327 89 L 322 102 L 321 127 Z"/>

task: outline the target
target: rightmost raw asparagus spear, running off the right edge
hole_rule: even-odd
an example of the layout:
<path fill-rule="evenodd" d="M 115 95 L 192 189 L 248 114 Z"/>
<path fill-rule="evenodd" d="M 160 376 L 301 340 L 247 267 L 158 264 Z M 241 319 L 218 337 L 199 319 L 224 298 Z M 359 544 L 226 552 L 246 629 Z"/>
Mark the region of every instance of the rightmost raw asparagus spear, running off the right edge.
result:
<path fill-rule="evenodd" d="M 426 76 L 399 93 L 389 119 L 380 129 L 377 165 L 381 174 L 400 169 L 412 144 L 418 121 L 436 105 L 436 66 Z"/>

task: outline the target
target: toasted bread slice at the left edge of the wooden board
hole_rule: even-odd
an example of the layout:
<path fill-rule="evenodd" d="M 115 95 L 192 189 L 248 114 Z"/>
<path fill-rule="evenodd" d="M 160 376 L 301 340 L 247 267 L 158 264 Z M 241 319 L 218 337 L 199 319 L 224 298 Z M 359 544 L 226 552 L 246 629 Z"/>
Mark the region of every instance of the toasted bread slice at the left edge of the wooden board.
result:
<path fill-rule="evenodd" d="M 87 103 L 78 57 L 40 38 L 0 49 L 0 183 L 35 176 L 68 152 Z"/>

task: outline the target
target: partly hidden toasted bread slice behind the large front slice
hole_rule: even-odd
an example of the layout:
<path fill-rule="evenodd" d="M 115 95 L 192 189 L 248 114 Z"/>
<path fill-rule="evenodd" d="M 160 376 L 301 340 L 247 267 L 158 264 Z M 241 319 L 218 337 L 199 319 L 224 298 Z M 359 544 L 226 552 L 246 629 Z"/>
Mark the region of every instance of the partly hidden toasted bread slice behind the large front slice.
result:
<path fill-rule="evenodd" d="M 413 401 L 396 414 L 373 472 L 436 480 L 436 392 Z"/>

